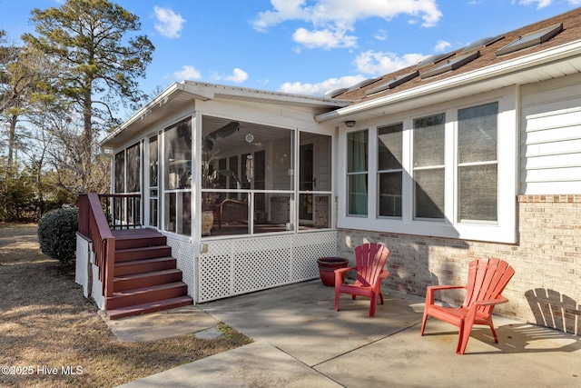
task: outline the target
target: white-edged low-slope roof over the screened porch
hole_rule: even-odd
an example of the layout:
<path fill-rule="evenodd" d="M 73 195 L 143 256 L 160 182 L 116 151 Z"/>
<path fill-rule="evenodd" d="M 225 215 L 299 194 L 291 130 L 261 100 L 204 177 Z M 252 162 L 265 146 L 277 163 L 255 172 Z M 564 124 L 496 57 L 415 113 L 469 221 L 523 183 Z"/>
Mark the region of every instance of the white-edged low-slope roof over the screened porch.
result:
<path fill-rule="evenodd" d="M 157 95 L 153 101 L 135 112 L 127 121 L 119 125 L 101 142 L 103 148 L 112 149 L 123 144 L 133 134 L 139 133 L 146 126 L 153 124 L 164 115 L 169 114 L 193 100 L 209 101 L 244 101 L 254 104 L 277 104 L 310 108 L 314 114 L 328 112 L 351 103 L 345 99 L 332 99 L 310 95 L 293 95 L 229 85 L 216 85 L 182 81 L 174 83 Z"/>

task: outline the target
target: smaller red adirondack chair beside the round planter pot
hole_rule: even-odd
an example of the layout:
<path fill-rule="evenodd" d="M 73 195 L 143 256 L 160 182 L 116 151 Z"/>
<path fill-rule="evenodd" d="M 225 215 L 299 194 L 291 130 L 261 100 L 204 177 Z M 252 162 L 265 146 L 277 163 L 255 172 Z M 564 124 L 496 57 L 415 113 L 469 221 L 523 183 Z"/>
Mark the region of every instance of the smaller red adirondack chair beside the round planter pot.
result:
<path fill-rule="evenodd" d="M 378 296 L 383 304 L 381 281 L 389 276 L 384 268 L 388 256 L 389 248 L 382 244 L 362 244 L 355 248 L 357 266 L 335 270 L 335 311 L 339 311 L 340 293 L 350 293 L 353 300 L 358 295 L 371 298 L 369 317 L 375 316 Z M 357 280 L 355 284 L 344 284 L 345 273 L 350 270 L 357 270 Z"/>

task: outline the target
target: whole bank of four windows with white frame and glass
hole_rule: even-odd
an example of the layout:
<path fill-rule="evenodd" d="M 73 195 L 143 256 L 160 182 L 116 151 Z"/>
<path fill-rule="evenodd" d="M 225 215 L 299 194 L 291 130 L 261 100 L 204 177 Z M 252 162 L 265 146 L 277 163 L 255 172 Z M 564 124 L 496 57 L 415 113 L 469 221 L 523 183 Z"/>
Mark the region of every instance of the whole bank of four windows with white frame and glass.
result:
<path fill-rule="evenodd" d="M 337 225 L 514 244 L 516 102 L 505 89 L 341 128 Z"/>

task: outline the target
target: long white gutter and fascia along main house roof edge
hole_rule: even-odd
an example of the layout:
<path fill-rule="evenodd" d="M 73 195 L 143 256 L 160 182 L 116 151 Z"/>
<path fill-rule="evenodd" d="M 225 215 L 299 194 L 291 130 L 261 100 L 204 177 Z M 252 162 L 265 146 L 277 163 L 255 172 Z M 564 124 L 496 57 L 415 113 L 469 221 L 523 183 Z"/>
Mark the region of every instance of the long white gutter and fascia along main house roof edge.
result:
<path fill-rule="evenodd" d="M 513 75 L 515 73 L 526 71 L 527 69 L 579 57 L 579 55 L 581 55 L 581 41 L 575 41 L 532 55 L 519 56 L 515 59 L 501 62 L 497 65 L 490 65 L 462 75 L 451 76 L 445 80 L 415 87 L 394 95 L 386 95 L 385 97 L 369 100 L 365 103 L 354 104 L 332 112 L 319 114 L 315 116 L 315 121 L 318 123 L 325 123 L 333 120 L 346 120 L 352 114 L 359 114 L 388 104 L 397 104 L 426 95 L 441 93 L 442 91 L 461 86 L 486 82 L 493 78 Z"/>

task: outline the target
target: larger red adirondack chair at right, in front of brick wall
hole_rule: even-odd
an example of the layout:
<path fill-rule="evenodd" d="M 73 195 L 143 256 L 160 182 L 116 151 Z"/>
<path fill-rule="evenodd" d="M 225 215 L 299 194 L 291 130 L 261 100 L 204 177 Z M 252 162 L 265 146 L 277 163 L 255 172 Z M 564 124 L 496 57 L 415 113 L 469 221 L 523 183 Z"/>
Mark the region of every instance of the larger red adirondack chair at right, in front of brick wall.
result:
<path fill-rule="evenodd" d="M 433 316 L 441 321 L 454 324 L 459 328 L 456 353 L 464 354 L 472 326 L 487 324 L 498 343 L 497 332 L 492 323 L 492 310 L 508 299 L 500 293 L 505 289 L 515 270 L 499 259 L 477 259 L 468 265 L 467 285 L 430 285 L 426 292 L 426 307 L 421 323 L 421 335 L 424 335 L 426 320 Z M 434 304 L 434 293 L 455 288 L 466 289 L 466 299 L 458 308 L 442 307 Z"/>

